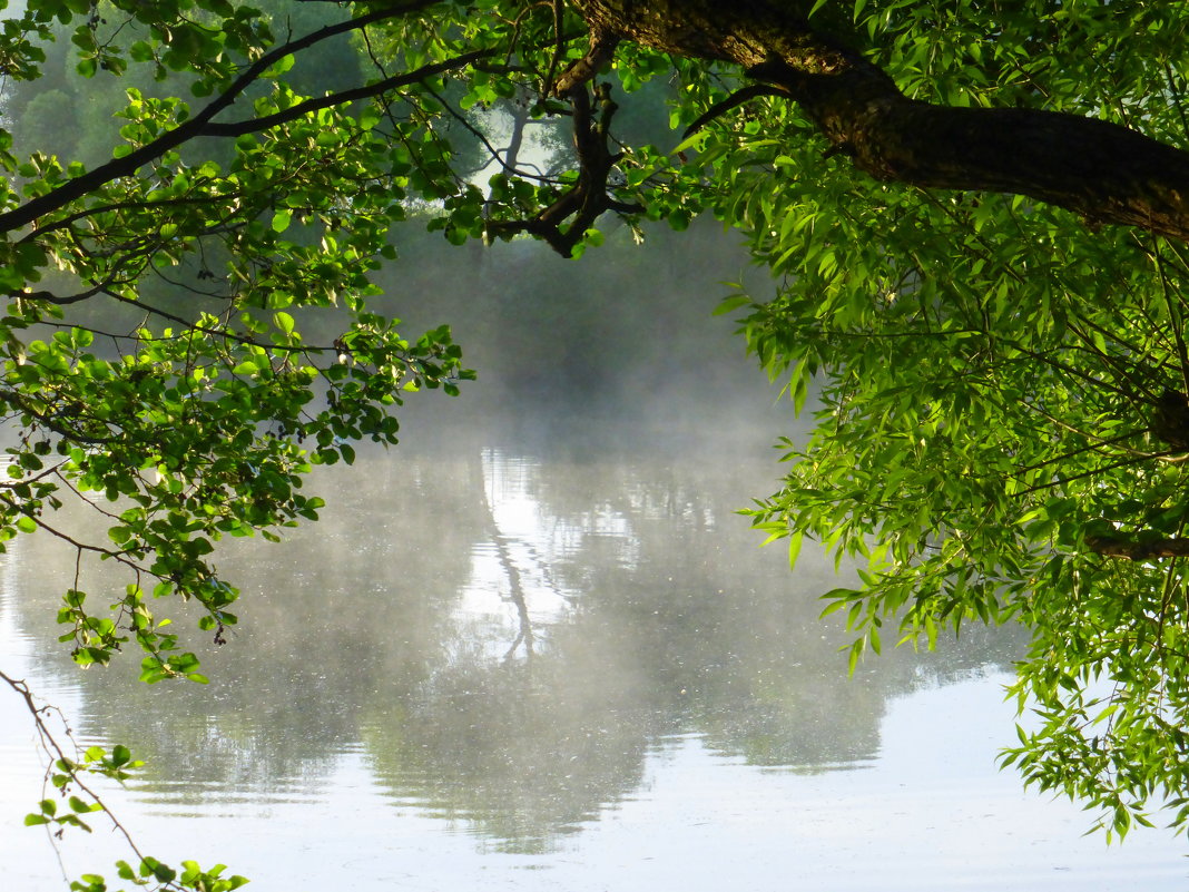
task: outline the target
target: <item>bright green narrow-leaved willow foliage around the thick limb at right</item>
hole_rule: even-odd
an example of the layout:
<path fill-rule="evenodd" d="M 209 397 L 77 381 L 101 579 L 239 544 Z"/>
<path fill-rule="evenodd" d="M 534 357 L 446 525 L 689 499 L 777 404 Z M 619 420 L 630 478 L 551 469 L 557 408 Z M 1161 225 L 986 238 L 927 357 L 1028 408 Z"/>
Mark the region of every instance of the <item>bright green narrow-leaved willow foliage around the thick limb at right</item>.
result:
<path fill-rule="evenodd" d="M 921 99 L 1183 138 L 1181 11 L 1031 6 L 856 5 Z M 1020 196 L 873 183 L 794 151 L 803 131 L 773 108 L 762 130 L 704 143 L 729 183 L 718 212 L 782 283 L 724 307 L 750 307 L 749 344 L 798 409 L 811 390 L 820 403 L 756 524 L 866 563 L 862 588 L 825 596 L 860 634 L 853 666 L 889 635 L 931 646 L 971 620 L 1026 623 L 1012 691 L 1037 720 L 1004 764 L 1122 835 L 1189 784 L 1184 247 Z M 1187 817 L 1177 798 L 1172 821 Z"/>

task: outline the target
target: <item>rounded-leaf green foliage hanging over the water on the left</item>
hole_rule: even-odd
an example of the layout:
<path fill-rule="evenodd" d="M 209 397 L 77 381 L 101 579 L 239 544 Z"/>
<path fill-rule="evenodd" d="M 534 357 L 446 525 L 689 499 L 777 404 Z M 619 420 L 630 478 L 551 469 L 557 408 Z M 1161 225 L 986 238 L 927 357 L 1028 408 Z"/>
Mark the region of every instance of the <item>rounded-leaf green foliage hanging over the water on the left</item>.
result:
<path fill-rule="evenodd" d="M 78 12 L 34 4 L 23 24 L 44 39 L 55 33 L 50 15 L 69 24 Z M 291 54 L 269 50 L 260 13 L 226 4 L 200 12 L 215 24 L 139 4 L 96 10 L 71 37 L 80 74 L 140 63 L 163 78 L 185 69 L 191 93 L 220 89 L 225 100 L 259 81 L 271 89 L 252 103 L 258 118 L 301 101 L 277 80 Z M 126 50 L 114 43 L 137 25 L 144 39 Z M 43 55 L 33 44 L 27 54 L 30 64 Z M 175 134 L 209 118 L 219 100 L 191 113 L 181 99 L 128 88 L 126 101 L 113 159 L 90 171 L 40 152 L 5 157 L 8 182 L 24 183 L 10 189 L 6 208 L 45 199 L 54 211 L 2 246 L 13 300 L 0 398 L 20 433 L 8 450 L 0 535 L 69 535 L 48 520 L 63 494 L 101 495 L 113 505 L 94 505 L 107 517 L 107 541 L 77 548 L 127 565 L 136 582 L 113 618 L 93 615 L 77 583 L 59 615 L 73 627 L 64 640 L 86 666 L 132 639 L 149 653 L 145 680 L 202 680 L 193 654 L 174 653 L 177 636 L 162 632 L 153 599 L 194 599 L 200 626 L 220 637 L 235 622 L 237 592 L 214 572 L 212 542 L 257 530 L 275 538 L 278 526 L 316 519 L 321 500 L 301 492 L 312 464 L 350 463 L 359 439 L 396 442 L 391 410 L 405 395 L 453 394 L 471 373 L 447 328 L 410 341 L 366 307 L 377 291 L 367 274 L 392 253 L 389 227 L 405 215 L 408 177 L 396 182 L 394 171 L 414 167 L 373 113 L 329 105 L 259 136 L 227 134 L 222 163 L 189 162 Z M 424 139 L 423 127 L 407 127 L 410 142 Z M 147 167 L 124 172 L 121 161 L 138 155 Z M 416 167 L 432 168 L 422 156 Z M 54 290 L 31 290 L 43 277 Z M 174 312 L 170 297 L 152 297 L 165 289 L 172 304 L 188 291 L 188 306 Z M 112 329 L 68 319 L 100 300 L 140 318 L 108 308 L 107 320 L 119 320 Z M 294 315 L 306 308 L 339 308 L 338 335 L 308 343 Z"/>

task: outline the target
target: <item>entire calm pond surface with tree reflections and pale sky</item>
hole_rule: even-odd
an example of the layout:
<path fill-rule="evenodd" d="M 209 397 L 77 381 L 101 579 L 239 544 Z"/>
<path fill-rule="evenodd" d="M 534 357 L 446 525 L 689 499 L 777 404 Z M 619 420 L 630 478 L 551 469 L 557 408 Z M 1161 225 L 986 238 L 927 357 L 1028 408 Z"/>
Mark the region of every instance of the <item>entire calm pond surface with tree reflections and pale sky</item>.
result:
<path fill-rule="evenodd" d="M 1189 888 L 1183 842 L 1107 849 L 995 769 L 1018 633 L 848 679 L 816 603 L 832 563 L 791 574 L 734 514 L 774 475 L 480 447 L 323 472 L 322 522 L 222 558 L 244 590 L 228 645 L 178 616 L 205 687 L 130 684 L 136 658 L 75 670 L 54 642 L 73 558 L 23 538 L 0 564 L 4 668 L 83 743 L 149 762 L 109 793 L 145 850 L 253 888 Z M 124 582 L 83 578 L 96 599 Z M 65 887 L 21 827 L 31 739 L 0 691 L 6 892 Z M 63 858 L 111 877 L 113 852 L 106 830 L 68 834 Z"/>

